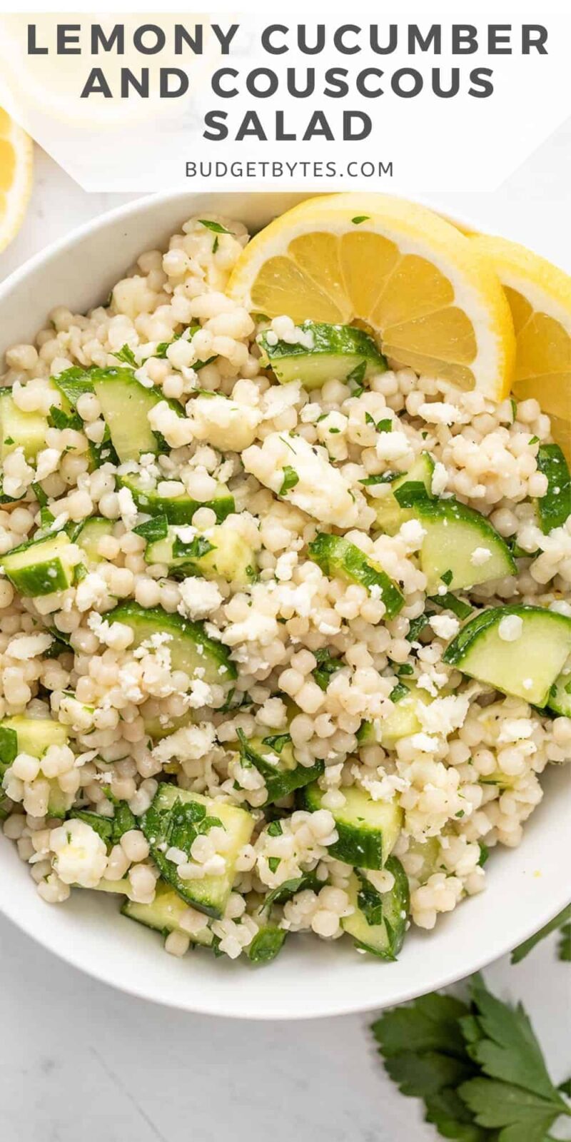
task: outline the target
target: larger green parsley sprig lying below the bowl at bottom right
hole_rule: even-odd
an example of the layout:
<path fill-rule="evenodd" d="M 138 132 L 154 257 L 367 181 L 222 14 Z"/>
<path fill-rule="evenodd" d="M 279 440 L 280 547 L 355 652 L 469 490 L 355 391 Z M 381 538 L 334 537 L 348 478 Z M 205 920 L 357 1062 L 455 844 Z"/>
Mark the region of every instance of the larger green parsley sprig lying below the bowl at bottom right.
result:
<path fill-rule="evenodd" d="M 458 1142 L 547 1142 L 571 1116 L 547 1072 L 522 1005 L 497 999 L 481 975 L 469 1006 L 428 995 L 372 1024 L 385 1068 L 402 1094 L 423 1099 L 426 1120 Z"/>

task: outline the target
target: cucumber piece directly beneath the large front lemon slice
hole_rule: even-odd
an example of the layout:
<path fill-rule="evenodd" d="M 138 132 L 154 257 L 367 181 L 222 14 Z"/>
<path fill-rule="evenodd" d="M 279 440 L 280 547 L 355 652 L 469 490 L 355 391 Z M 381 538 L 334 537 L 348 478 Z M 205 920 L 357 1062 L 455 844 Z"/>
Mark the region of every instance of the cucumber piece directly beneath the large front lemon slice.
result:
<path fill-rule="evenodd" d="M 259 333 L 263 368 L 273 369 L 280 384 L 300 380 L 304 388 L 321 388 L 327 380 L 355 380 L 362 384 L 369 377 L 384 372 L 385 357 L 362 329 L 353 325 L 327 325 L 304 321 L 304 333 L 313 337 L 312 348 L 278 341 L 272 345 L 267 332 Z"/>

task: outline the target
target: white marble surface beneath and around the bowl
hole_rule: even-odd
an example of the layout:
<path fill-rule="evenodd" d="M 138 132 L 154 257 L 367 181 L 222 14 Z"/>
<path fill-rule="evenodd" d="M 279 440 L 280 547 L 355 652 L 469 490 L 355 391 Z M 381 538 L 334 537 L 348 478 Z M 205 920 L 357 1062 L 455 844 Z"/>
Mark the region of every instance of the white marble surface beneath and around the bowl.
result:
<path fill-rule="evenodd" d="M 439 195 L 439 204 L 469 212 L 569 268 L 570 158 L 568 124 L 496 194 Z M 0 279 L 127 198 L 89 196 L 38 154 L 30 210 L 0 255 Z M 517 967 L 498 962 L 486 978 L 504 997 L 523 999 L 553 1077 L 568 1077 L 571 970 L 556 960 L 554 938 Z M 419 1105 L 386 1079 L 368 1034 L 370 1016 L 257 1024 L 185 1015 L 96 983 L 1 918 L 0 980 L 5 1142 L 435 1139 Z"/>

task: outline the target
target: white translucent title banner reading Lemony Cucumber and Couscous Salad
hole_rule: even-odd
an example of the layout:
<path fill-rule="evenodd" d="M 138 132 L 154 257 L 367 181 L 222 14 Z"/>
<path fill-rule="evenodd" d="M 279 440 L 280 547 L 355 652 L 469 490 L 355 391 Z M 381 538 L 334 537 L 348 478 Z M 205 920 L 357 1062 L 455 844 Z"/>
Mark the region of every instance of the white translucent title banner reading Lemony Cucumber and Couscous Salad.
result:
<path fill-rule="evenodd" d="M 90 191 L 493 190 L 571 114 L 571 15 L 471 8 L 8 14 L 0 105 Z"/>

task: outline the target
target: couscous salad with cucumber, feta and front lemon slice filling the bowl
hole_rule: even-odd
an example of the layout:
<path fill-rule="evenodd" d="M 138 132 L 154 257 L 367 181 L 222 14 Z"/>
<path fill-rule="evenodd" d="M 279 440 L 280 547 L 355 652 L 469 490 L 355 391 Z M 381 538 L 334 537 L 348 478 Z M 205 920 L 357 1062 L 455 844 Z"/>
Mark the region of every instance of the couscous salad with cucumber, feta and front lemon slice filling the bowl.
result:
<path fill-rule="evenodd" d="M 391 960 L 520 843 L 571 756 L 571 488 L 486 241 L 206 214 L 7 351 L 0 814 L 45 901 Z"/>

